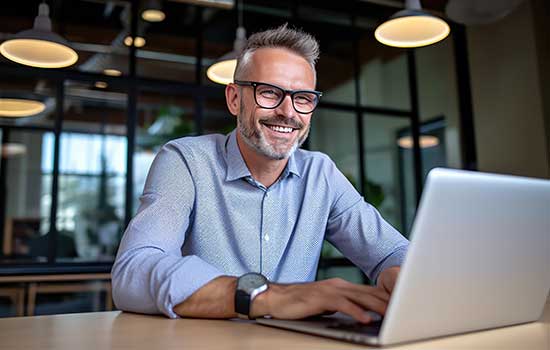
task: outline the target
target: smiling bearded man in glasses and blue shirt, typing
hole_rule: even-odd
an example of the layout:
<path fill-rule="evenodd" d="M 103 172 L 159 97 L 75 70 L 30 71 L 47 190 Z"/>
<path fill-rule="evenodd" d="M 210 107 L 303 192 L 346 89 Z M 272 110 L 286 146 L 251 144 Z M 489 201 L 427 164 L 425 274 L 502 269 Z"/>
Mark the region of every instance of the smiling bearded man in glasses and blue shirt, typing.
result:
<path fill-rule="evenodd" d="M 340 311 L 364 323 L 368 310 L 384 314 L 408 241 L 326 155 L 299 149 L 320 97 L 318 54 L 286 25 L 252 35 L 225 90 L 237 129 L 162 148 L 113 266 L 119 308 L 172 318 Z M 324 238 L 377 286 L 312 282 Z"/>

